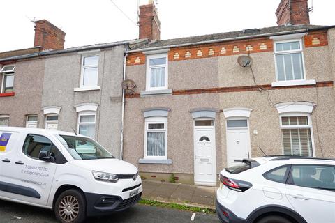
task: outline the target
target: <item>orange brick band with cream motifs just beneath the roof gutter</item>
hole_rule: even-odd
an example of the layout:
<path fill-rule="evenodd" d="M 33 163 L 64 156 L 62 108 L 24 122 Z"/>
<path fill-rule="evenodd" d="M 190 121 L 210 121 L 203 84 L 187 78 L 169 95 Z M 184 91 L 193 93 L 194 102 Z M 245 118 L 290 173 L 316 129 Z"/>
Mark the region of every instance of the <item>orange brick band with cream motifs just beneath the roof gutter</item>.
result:
<path fill-rule="evenodd" d="M 304 36 L 305 47 L 321 47 L 328 45 L 327 30 L 311 31 Z M 213 56 L 231 56 L 237 54 L 253 54 L 273 52 L 274 43 L 269 37 L 251 38 L 248 40 L 233 40 L 221 43 L 210 43 L 187 47 L 174 47 L 168 53 L 169 61 L 200 59 Z M 126 65 L 145 64 L 142 52 L 130 53 Z"/>

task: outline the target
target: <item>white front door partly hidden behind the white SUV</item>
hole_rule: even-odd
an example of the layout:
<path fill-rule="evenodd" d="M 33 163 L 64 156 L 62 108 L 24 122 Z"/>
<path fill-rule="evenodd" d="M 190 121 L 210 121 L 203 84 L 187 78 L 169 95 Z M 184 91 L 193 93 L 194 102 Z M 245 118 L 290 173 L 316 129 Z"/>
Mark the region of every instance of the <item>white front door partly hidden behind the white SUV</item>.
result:
<path fill-rule="evenodd" d="M 228 167 L 237 163 L 235 160 L 251 157 L 247 119 L 227 120 L 226 137 Z"/>

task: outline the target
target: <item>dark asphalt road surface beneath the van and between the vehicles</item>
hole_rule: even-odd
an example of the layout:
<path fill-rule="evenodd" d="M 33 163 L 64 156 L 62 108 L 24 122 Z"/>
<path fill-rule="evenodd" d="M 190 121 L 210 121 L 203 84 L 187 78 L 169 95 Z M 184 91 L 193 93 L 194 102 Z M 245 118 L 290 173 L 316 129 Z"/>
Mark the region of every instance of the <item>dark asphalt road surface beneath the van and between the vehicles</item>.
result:
<path fill-rule="evenodd" d="M 0 200 L 1 223 L 57 223 L 52 210 Z M 87 223 L 170 223 L 206 222 L 220 223 L 216 214 L 192 213 L 172 208 L 158 208 L 137 203 L 120 213 L 104 217 L 89 217 Z"/>

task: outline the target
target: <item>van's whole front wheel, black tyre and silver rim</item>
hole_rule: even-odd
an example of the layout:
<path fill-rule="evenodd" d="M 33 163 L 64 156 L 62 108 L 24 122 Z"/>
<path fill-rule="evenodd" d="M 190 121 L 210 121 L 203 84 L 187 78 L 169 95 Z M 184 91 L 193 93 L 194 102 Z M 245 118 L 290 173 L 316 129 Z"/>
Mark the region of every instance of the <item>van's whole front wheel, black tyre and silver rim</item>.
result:
<path fill-rule="evenodd" d="M 78 190 L 66 190 L 57 198 L 54 204 L 54 214 L 62 223 L 84 222 L 86 213 L 84 195 Z"/>

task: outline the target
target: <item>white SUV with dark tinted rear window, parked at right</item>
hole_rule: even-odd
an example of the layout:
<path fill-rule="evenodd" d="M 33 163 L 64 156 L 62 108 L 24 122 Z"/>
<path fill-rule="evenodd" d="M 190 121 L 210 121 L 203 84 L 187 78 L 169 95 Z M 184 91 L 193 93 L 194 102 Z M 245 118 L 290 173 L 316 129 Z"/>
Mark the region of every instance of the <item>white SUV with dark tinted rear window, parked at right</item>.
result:
<path fill-rule="evenodd" d="M 335 160 L 242 160 L 221 171 L 220 181 L 216 213 L 221 222 L 335 222 Z"/>

